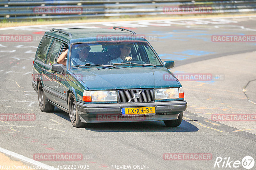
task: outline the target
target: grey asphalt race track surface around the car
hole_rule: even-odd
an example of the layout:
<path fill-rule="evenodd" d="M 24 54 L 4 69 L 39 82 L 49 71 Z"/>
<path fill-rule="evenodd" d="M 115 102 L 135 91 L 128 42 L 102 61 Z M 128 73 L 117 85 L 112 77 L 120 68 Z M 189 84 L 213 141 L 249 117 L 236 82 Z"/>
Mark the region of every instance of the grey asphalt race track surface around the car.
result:
<path fill-rule="evenodd" d="M 0 152 L 12 161 L 38 165 L 41 169 L 51 169 L 50 166 L 52 169 L 72 166 L 73 169 L 148 170 L 248 168 L 256 159 L 256 41 L 254 38 L 254 41 L 214 42 L 213 35 L 255 37 L 255 25 L 256 17 L 250 16 L 2 28 L 1 36 L 18 34 L 23 39 L 8 42 L 0 39 L 0 114 L 30 113 L 36 119 L 1 120 Z M 168 128 L 157 121 L 75 128 L 68 113 L 56 107 L 53 113 L 41 112 L 31 85 L 31 73 L 44 32 L 52 28 L 112 26 L 129 28 L 146 36 L 163 61 L 175 61 L 171 71 L 180 79 L 188 102 L 179 127 Z M 211 79 L 191 79 L 191 75 L 194 78 L 210 75 Z M 213 120 L 214 115 L 234 114 L 246 114 L 251 119 Z M 81 159 L 36 158 L 38 154 L 51 153 L 70 153 Z M 189 157 L 183 157 L 186 154 Z M 217 157 L 219 162 L 223 159 L 220 168 L 214 167 Z M 227 165 L 228 159 L 232 162 Z M 240 165 L 233 165 L 237 160 Z M 0 165 L 6 164 L 0 160 Z"/>

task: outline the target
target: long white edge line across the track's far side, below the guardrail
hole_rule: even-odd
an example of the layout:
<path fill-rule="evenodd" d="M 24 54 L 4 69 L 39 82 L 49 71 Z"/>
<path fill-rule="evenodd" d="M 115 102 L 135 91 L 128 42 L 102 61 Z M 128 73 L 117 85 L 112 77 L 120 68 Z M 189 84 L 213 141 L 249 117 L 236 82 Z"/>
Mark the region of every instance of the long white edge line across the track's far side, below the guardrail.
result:
<path fill-rule="evenodd" d="M 69 23 L 69 24 L 51 24 L 51 25 L 28 25 L 28 26 L 16 26 L 16 27 L 7 27 L 0 28 L 0 30 L 10 30 L 16 28 L 33 28 L 33 27 L 53 27 L 53 26 L 65 26 L 65 25 L 96 25 L 96 24 L 108 24 L 108 23 L 136 23 L 136 22 L 159 22 L 159 21 L 184 21 L 184 20 L 195 20 L 195 19 L 219 19 L 219 18 L 255 18 L 256 15 L 252 16 L 236 16 L 236 17 L 209 17 L 209 18 L 180 18 L 180 19 L 155 19 L 155 20 L 137 20 L 137 21 L 108 21 L 108 22 L 88 22 L 88 23 Z"/>

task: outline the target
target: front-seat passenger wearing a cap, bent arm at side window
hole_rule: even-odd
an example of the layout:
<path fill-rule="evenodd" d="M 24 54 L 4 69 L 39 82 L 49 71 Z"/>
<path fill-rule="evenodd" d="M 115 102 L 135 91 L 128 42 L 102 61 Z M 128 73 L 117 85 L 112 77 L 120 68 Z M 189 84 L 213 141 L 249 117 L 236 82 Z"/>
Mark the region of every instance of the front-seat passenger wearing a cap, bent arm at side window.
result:
<path fill-rule="evenodd" d="M 77 48 L 79 51 L 76 54 L 76 56 L 75 57 L 71 56 L 71 65 L 72 66 L 85 65 L 86 63 L 93 64 L 91 61 L 87 60 L 89 51 L 91 50 L 90 46 L 86 44 L 79 44 Z M 60 57 L 57 60 L 59 64 L 63 64 L 64 66 L 66 66 L 67 53 L 68 53 L 68 50 L 60 54 Z"/>

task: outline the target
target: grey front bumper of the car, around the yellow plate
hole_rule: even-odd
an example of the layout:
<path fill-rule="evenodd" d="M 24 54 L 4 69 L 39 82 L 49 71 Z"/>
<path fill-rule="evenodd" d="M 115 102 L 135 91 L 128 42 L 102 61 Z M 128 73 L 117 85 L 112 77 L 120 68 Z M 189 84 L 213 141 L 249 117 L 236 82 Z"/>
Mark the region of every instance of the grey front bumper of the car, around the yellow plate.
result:
<path fill-rule="evenodd" d="M 156 115 L 146 116 L 122 116 L 122 108 L 126 107 L 156 107 Z M 109 103 L 109 104 L 84 104 L 76 103 L 77 113 L 81 122 L 140 122 L 157 120 L 176 120 L 180 112 L 187 109 L 187 102 L 153 102 L 153 103 Z"/>

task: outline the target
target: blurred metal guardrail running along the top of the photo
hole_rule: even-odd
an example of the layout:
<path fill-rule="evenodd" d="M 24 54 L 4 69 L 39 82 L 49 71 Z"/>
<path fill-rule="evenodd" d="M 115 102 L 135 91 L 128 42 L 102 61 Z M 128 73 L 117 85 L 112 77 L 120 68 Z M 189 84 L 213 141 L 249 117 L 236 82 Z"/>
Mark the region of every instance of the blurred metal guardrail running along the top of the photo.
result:
<path fill-rule="evenodd" d="M 180 8 L 181 12 L 175 12 Z M 197 15 L 195 9 L 203 8 L 207 14 L 255 13 L 256 0 L 2 0 L 0 19 L 25 20 L 39 18 L 95 18 L 122 16 Z M 167 9 L 167 10 L 166 10 Z M 195 10 L 188 12 L 186 9 Z M 182 11 L 183 10 L 183 11 Z"/>

